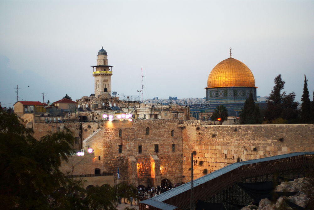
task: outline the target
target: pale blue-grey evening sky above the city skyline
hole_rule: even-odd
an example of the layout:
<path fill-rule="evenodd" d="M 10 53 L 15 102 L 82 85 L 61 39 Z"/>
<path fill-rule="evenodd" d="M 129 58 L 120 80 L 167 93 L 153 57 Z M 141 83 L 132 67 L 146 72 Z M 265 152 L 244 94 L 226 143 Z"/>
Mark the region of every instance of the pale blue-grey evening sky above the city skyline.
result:
<path fill-rule="evenodd" d="M 54 102 L 94 93 L 103 46 L 120 99 L 205 97 L 210 71 L 232 57 L 255 77 L 257 95 L 314 91 L 314 1 L 0 0 L 0 102 Z M 124 95 L 124 96 L 123 96 Z"/>

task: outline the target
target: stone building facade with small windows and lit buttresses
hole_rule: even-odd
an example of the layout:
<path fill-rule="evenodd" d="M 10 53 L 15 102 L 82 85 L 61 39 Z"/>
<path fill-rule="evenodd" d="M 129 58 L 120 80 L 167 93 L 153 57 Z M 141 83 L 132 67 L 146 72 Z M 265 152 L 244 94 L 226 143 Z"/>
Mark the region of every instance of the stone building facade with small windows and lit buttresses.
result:
<path fill-rule="evenodd" d="M 146 128 L 149 128 L 148 135 Z M 178 120 L 107 121 L 103 130 L 104 172 L 116 174 L 119 165 L 120 180 L 127 181 L 128 167 L 132 167 L 128 165 L 127 157 L 134 156 L 137 160 L 138 185 L 147 186 L 151 181 L 160 183 L 160 178 L 156 176 L 151 180 L 151 155 L 156 155 L 160 159 L 161 180 L 167 178 L 172 183 L 181 182 L 182 132 Z M 119 136 L 119 130 L 122 130 L 122 136 Z M 172 144 L 175 144 L 175 151 L 172 151 Z M 119 145 L 122 146 L 121 153 Z M 138 153 L 139 145 L 142 146 L 142 153 Z M 158 145 L 158 152 L 155 152 L 154 145 Z"/>

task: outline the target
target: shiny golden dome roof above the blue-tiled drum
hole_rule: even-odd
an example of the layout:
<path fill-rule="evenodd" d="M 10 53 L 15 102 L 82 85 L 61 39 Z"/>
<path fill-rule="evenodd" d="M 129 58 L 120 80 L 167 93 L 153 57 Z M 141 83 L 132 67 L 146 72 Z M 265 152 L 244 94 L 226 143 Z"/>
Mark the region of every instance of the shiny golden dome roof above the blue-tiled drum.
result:
<path fill-rule="evenodd" d="M 228 58 L 217 64 L 207 79 L 207 88 L 255 87 L 251 70 L 241 61 Z"/>

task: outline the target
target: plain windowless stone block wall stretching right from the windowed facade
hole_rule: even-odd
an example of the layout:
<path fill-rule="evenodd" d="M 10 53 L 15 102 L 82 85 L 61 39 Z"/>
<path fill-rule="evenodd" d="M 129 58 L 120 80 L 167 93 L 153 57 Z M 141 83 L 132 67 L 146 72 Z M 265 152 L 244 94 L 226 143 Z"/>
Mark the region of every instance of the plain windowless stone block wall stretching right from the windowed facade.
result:
<path fill-rule="evenodd" d="M 184 125 L 183 182 L 190 181 L 193 151 L 194 178 L 203 176 L 204 169 L 210 173 L 237 161 L 314 151 L 313 124 L 200 125 L 191 120 Z"/>

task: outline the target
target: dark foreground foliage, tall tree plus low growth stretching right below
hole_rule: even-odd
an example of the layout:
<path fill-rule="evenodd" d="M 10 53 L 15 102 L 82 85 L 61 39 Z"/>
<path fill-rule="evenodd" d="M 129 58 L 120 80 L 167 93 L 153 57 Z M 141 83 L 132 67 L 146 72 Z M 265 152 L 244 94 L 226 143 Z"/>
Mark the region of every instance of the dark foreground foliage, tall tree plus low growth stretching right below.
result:
<path fill-rule="evenodd" d="M 116 209 L 116 186 L 85 190 L 82 180 L 67 178 L 59 170 L 74 152 L 70 131 L 50 133 L 40 141 L 32 134 L 15 114 L 0 106 L 1 209 Z M 133 196 L 131 191 L 123 190 L 123 195 Z"/>

